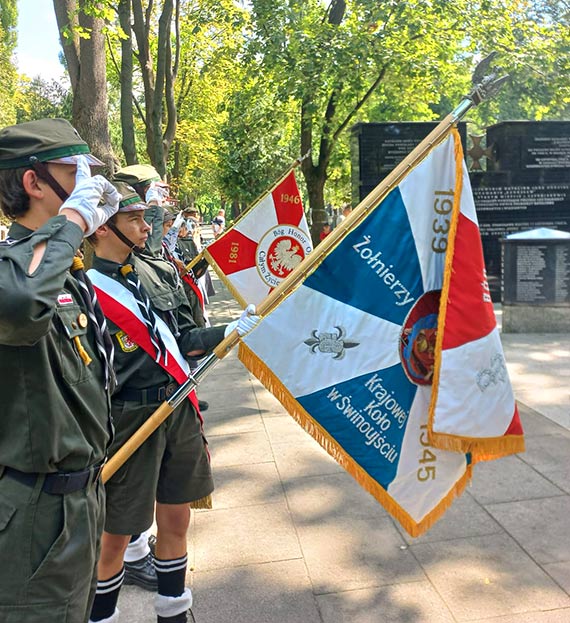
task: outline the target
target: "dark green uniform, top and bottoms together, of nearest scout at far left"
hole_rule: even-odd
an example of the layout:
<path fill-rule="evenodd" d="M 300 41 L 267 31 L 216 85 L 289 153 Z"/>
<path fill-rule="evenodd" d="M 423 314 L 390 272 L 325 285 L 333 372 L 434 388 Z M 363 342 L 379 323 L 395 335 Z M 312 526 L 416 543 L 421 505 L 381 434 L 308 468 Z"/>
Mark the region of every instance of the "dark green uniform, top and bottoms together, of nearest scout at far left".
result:
<path fill-rule="evenodd" d="M 0 243 L 3 623 L 79 623 L 94 594 L 104 490 L 93 466 L 105 458 L 110 421 L 94 329 L 69 272 L 82 238 L 56 216 L 34 232 L 15 223 Z M 30 276 L 40 241 L 47 249 Z M 79 490 L 43 490 L 46 474 L 82 470 L 89 476 Z"/>

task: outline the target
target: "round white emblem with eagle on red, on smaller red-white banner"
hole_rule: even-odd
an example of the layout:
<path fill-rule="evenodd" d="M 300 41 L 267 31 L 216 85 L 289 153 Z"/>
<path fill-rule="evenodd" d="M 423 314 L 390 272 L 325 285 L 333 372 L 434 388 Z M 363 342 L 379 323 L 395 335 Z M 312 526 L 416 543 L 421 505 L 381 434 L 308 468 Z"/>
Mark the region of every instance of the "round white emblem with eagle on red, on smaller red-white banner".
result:
<path fill-rule="evenodd" d="M 275 288 L 295 269 L 312 249 L 311 239 L 293 225 L 277 225 L 259 241 L 255 264 L 259 276 Z"/>

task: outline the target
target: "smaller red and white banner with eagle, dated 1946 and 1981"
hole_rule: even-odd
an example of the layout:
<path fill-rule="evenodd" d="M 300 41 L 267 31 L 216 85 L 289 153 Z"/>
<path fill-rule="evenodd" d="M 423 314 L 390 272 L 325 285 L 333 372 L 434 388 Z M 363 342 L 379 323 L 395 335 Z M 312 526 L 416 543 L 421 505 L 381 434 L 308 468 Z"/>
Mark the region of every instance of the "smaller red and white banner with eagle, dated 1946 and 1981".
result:
<path fill-rule="evenodd" d="M 204 249 L 204 257 L 237 301 L 262 301 L 312 251 L 295 173 L 287 174 Z"/>

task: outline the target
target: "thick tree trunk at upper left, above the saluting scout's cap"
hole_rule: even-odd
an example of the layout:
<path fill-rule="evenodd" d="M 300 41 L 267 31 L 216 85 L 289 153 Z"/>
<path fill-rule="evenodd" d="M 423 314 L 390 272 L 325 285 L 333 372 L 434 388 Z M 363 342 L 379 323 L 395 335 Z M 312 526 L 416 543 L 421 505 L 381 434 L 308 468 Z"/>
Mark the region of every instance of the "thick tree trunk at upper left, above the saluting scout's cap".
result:
<path fill-rule="evenodd" d="M 85 0 L 79 1 L 79 15 L 75 21 L 75 0 L 54 0 L 60 33 L 66 26 L 73 27 L 74 22 L 90 31 L 88 39 L 79 41 L 75 37 L 69 41 L 60 35 L 73 91 L 72 123 L 112 174 L 116 160 L 109 136 L 103 21 L 85 14 L 85 4 Z"/>

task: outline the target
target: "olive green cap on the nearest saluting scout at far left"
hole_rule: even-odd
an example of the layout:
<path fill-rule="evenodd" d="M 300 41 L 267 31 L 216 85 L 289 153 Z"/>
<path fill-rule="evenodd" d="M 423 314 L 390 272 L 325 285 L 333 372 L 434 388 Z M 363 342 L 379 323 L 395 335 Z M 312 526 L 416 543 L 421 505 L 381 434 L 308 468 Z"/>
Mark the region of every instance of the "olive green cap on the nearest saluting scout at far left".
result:
<path fill-rule="evenodd" d="M 79 155 L 84 155 L 90 166 L 105 166 L 89 151 L 89 145 L 65 119 L 38 119 L 0 130 L 0 169 L 18 169 L 34 161 L 75 164 Z"/>

